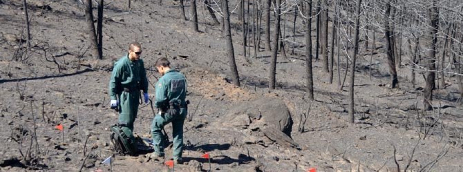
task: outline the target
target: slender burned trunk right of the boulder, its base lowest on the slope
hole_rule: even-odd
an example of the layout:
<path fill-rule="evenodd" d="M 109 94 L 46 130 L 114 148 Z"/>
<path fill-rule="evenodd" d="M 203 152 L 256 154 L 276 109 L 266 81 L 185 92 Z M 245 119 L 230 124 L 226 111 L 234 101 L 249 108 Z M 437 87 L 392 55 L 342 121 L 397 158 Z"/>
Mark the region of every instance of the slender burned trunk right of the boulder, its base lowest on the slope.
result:
<path fill-rule="evenodd" d="M 355 79 L 355 59 L 357 59 L 357 53 L 359 51 L 359 27 L 360 27 L 360 7 L 362 0 L 357 2 L 357 17 L 355 17 L 355 40 L 354 40 L 354 51 L 352 53 L 352 66 L 350 71 L 350 83 L 349 83 L 349 117 L 350 122 L 354 123 L 354 79 Z"/>

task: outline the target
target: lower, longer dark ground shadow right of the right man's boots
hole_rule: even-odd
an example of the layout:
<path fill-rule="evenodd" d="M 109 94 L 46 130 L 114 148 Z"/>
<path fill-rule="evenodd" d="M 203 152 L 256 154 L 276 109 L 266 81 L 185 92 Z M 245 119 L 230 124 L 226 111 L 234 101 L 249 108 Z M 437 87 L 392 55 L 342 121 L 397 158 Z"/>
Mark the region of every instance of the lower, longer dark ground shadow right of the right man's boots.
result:
<path fill-rule="evenodd" d="M 183 158 L 184 162 L 190 162 L 192 160 L 196 160 L 200 163 L 209 163 L 209 161 L 206 158 L 193 158 L 193 157 L 184 157 Z M 227 164 L 232 164 L 232 163 L 238 163 L 238 164 L 245 164 L 251 161 L 255 161 L 256 159 L 253 157 L 248 157 L 244 154 L 238 155 L 237 159 L 230 158 L 225 155 L 221 156 L 211 156 L 210 157 L 210 163 L 211 164 L 219 164 L 219 165 L 227 165 Z M 207 167 L 207 165 L 205 165 Z"/>

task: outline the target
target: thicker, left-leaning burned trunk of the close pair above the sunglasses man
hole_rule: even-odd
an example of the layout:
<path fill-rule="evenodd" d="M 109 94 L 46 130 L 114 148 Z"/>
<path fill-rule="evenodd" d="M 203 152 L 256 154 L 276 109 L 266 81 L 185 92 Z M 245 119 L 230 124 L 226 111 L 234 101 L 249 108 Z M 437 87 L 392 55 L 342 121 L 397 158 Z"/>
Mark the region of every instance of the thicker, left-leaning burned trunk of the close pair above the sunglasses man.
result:
<path fill-rule="evenodd" d="M 95 25 L 93 24 L 93 7 L 92 0 L 85 1 L 85 18 L 87 23 L 87 33 L 92 45 L 92 54 L 96 59 L 102 59 L 98 51 L 98 40 L 95 33 Z"/>

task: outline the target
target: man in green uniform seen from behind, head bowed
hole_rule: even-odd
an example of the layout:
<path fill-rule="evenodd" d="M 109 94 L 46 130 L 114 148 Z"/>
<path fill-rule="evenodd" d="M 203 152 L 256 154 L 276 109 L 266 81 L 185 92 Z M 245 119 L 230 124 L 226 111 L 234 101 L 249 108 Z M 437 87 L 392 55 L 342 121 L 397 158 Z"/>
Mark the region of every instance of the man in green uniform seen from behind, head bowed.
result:
<path fill-rule="evenodd" d="M 164 136 L 162 129 L 168 123 L 172 123 L 173 160 L 182 163 L 183 151 L 183 123 L 187 116 L 185 75 L 170 68 L 170 62 L 166 58 L 156 61 L 156 68 L 163 75 L 156 83 L 156 98 L 154 106 L 159 113 L 151 124 L 151 135 L 154 144 L 154 154 L 164 156 Z"/>

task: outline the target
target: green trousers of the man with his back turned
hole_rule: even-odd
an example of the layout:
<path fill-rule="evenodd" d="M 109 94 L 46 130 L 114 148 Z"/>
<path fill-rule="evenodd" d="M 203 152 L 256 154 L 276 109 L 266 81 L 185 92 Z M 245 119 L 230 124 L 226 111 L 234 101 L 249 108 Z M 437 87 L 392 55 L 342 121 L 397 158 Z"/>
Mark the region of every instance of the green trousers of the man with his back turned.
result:
<path fill-rule="evenodd" d="M 179 111 L 180 110 L 180 111 Z M 182 158 L 183 151 L 183 123 L 187 116 L 187 110 L 180 108 L 176 114 L 156 114 L 151 124 L 151 137 L 153 138 L 154 152 L 158 155 L 164 155 L 164 135 L 163 128 L 165 125 L 172 123 L 173 138 L 173 158 Z"/>

